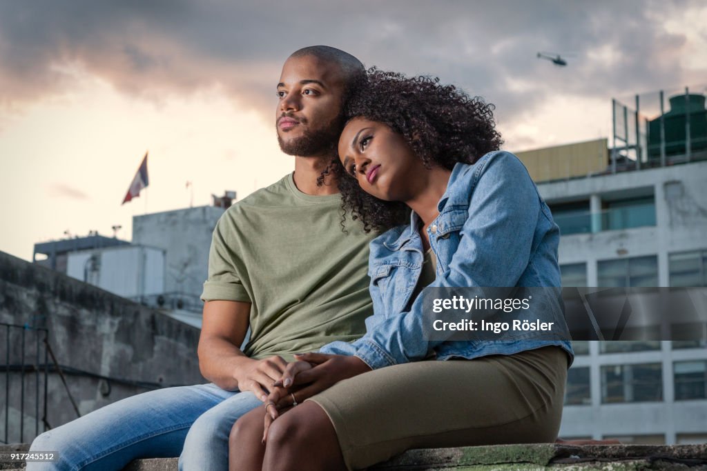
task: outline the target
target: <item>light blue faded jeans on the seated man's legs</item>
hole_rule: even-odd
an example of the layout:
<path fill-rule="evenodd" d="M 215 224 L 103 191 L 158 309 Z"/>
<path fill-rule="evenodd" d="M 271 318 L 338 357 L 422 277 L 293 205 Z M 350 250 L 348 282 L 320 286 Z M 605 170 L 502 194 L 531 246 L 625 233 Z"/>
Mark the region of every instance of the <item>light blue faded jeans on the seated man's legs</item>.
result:
<path fill-rule="evenodd" d="M 27 471 L 121 470 L 136 458 L 180 456 L 180 471 L 228 470 L 233 423 L 261 405 L 253 393 L 214 384 L 134 395 L 45 431 L 30 451 L 57 451 Z"/>

